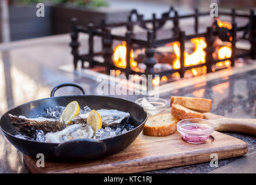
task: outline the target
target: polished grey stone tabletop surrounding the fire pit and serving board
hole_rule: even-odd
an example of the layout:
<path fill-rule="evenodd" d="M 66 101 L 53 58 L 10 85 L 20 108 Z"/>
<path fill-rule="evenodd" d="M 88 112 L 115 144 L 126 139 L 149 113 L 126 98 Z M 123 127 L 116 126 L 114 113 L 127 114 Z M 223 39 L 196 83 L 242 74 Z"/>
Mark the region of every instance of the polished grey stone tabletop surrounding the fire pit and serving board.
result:
<path fill-rule="evenodd" d="M 0 61 L 0 115 L 21 103 L 49 97 L 50 91 L 56 84 L 75 82 L 86 88 L 88 94 L 96 94 L 98 83 L 75 75 L 62 72 L 60 65 L 70 64 L 72 56 L 68 35 L 52 37 L 59 42 L 46 42 L 40 39 L 31 44 L 23 45 L 17 42 L 16 49 L 9 45 L 0 46 L 2 60 Z M 46 38 L 49 39 L 49 38 Z M 42 41 L 41 40 L 41 41 Z M 49 39 L 52 40 L 52 39 Z M 28 41 L 28 43 L 31 41 Z M 23 42 L 24 43 L 24 42 Z M 12 43 L 12 45 L 14 45 Z M 85 46 L 86 47 L 86 46 Z M 79 94 L 79 90 L 65 87 L 57 91 L 56 95 Z M 204 97 L 213 99 L 211 112 L 226 117 L 255 118 L 256 117 L 256 71 L 239 73 L 221 79 L 203 82 L 179 90 L 173 90 L 160 97 L 170 101 L 170 95 L 189 97 Z M 114 95 L 115 97 L 135 101 L 142 95 Z M 225 133 L 240 138 L 248 143 L 248 153 L 256 150 L 255 137 Z M 220 160 L 219 166 L 224 166 L 237 158 Z M 207 173 L 215 168 L 209 162 L 186 165 L 175 168 L 160 169 L 147 173 Z M 23 163 L 23 156 L 13 147 L 0 132 L 0 173 L 28 173 Z"/>

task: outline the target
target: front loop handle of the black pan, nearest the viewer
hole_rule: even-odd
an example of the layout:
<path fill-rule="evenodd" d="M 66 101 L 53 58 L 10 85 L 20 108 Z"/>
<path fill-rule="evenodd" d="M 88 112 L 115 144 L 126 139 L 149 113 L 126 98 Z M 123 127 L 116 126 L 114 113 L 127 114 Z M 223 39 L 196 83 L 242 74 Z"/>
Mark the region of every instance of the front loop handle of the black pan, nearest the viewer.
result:
<path fill-rule="evenodd" d="M 107 150 L 105 142 L 96 139 L 74 139 L 60 143 L 55 149 L 57 157 L 78 159 L 81 157 L 93 158 Z"/>

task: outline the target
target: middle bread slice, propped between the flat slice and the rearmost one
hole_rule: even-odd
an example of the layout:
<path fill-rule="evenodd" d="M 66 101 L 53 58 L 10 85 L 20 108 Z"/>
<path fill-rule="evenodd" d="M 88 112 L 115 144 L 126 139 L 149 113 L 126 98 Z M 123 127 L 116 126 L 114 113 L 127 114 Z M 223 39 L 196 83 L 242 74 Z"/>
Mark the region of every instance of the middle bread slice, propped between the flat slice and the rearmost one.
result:
<path fill-rule="evenodd" d="M 189 118 L 200 118 L 203 119 L 203 114 L 195 112 L 193 110 L 184 108 L 184 106 L 171 104 L 171 115 L 178 119 L 184 120 Z"/>

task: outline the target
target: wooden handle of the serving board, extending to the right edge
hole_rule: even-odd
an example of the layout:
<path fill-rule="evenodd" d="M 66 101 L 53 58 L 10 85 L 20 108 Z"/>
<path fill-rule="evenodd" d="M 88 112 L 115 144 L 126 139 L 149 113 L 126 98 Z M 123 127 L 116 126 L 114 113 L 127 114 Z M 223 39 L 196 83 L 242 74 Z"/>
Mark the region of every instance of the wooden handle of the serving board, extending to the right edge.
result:
<path fill-rule="evenodd" d="M 241 132 L 256 136 L 256 119 L 233 119 L 210 112 L 204 113 L 204 119 L 211 120 L 215 131 Z"/>

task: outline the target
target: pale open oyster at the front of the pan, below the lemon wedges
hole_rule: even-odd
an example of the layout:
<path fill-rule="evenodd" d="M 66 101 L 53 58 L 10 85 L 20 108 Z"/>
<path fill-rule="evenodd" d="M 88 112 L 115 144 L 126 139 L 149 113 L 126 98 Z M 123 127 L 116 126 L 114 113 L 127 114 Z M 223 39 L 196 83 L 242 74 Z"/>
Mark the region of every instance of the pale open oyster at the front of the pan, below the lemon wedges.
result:
<path fill-rule="evenodd" d="M 62 143 L 72 139 L 92 138 L 94 131 L 90 125 L 87 124 L 73 124 L 62 131 L 47 133 L 45 135 L 46 142 Z"/>

